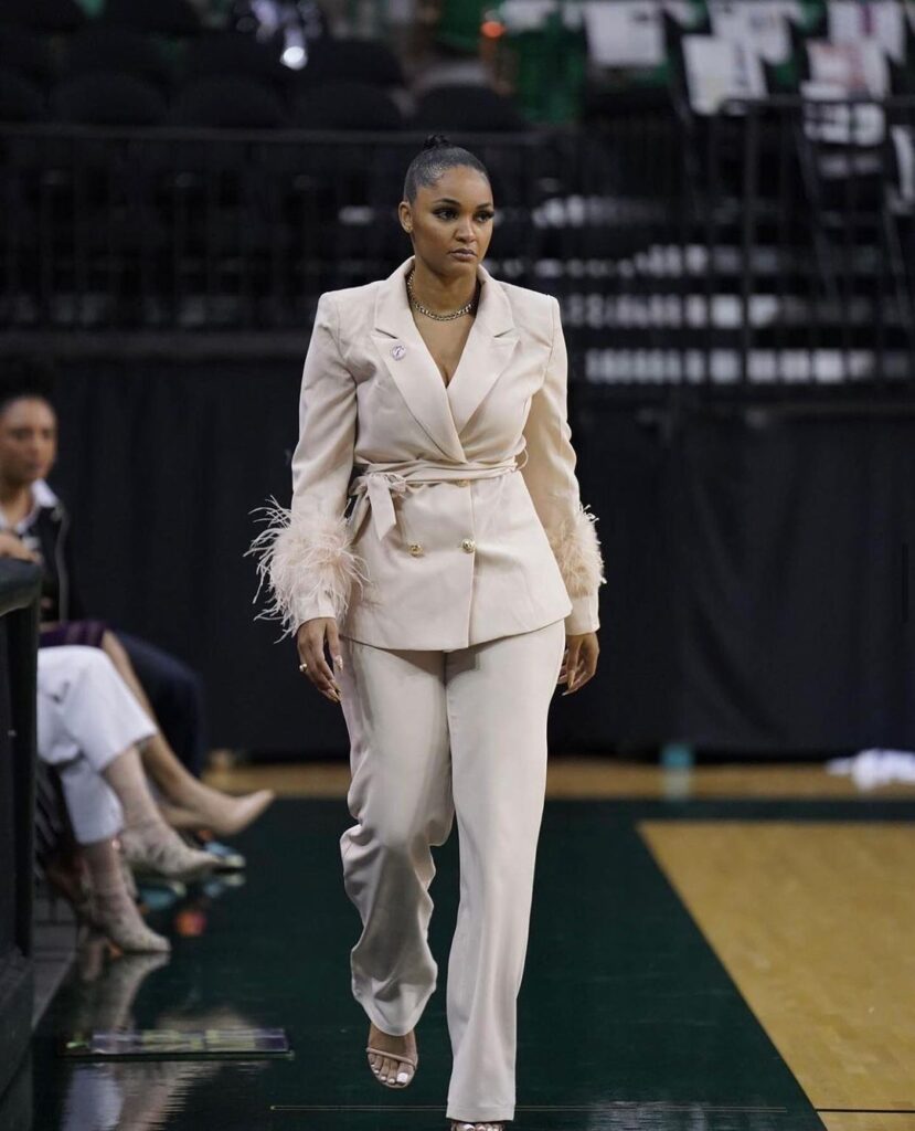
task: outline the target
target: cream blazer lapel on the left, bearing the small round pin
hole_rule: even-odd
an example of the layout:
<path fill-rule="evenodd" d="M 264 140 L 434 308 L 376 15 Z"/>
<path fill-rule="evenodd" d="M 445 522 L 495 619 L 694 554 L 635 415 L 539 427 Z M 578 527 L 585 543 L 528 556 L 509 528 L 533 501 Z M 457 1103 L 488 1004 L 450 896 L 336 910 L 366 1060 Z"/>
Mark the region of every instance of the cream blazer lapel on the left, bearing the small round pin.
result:
<path fill-rule="evenodd" d="M 407 407 L 429 439 L 448 459 L 463 464 L 467 457 L 454 426 L 445 382 L 410 312 L 404 279 L 412 261 L 410 257 L 401 264 L 378 287 L 372 340 Z"/>

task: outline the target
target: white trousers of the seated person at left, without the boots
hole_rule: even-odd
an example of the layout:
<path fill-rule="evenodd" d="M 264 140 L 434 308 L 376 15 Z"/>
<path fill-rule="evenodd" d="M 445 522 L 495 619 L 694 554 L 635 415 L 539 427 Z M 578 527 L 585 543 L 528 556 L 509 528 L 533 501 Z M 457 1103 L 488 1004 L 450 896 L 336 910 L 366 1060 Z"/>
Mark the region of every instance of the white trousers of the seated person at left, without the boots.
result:
<path fill-rule="evenodd" d="M 123 811 L 102 771 L 156 727 L 101 648 L 38 649 L 37 746 L 58 767 L 79 844 L 116 836 Z"/>

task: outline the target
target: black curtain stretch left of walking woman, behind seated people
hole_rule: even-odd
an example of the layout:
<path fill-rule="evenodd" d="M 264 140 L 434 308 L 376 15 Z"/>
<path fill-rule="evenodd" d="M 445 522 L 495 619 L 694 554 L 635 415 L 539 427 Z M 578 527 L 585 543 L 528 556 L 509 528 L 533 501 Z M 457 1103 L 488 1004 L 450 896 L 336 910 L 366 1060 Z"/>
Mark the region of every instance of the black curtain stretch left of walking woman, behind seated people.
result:
<path fill-rule="evenodd" d="M 299 377 L 290 363 L 146 361 L 80 363 L 59 382 L 53 484 L 87 610 L 201 671 L 215 745 L 345 749 L 339 707 L 289 640 L 274 644 L 278 624 L 254 620 L 244 556 L 252 511 L 289 502 Z"/>

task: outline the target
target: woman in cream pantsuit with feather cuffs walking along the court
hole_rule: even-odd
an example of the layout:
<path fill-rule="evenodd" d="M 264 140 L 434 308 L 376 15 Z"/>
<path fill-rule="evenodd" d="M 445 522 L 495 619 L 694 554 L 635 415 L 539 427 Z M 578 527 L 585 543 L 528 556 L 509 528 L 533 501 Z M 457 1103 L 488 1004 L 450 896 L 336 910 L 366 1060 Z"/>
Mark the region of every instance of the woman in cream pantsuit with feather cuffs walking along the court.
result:
<path fill-rule="evenodd" d="M 300 670 L 342 703 L 356 823 L 341 855 L 363 922 L 352 992 L 390 1087 L 418 1064 L 437 977 L 430 846 L 456 814 L 453 1128 L 514 1117 L 547 713 L 557 682 L 568 694 L 594 673 L 604 580 L 559 307 L 483 269 L 493 216 L 480 162 L 429 139 L 400 205 L 415 254 L 319 302 L 291 509 L 274 508 L 254 544 Z"/>

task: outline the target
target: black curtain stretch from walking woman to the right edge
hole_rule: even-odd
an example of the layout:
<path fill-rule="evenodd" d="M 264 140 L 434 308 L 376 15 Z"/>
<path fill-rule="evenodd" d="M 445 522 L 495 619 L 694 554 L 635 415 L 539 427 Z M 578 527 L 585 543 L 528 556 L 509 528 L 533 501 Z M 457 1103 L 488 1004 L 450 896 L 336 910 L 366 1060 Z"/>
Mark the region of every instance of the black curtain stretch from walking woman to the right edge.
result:
<path fill-rule="evenodd" d="M 915 416 L 584 415 L 608 562 L 594 733 L 915 749 Z"/>

